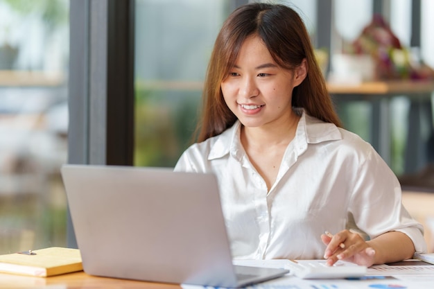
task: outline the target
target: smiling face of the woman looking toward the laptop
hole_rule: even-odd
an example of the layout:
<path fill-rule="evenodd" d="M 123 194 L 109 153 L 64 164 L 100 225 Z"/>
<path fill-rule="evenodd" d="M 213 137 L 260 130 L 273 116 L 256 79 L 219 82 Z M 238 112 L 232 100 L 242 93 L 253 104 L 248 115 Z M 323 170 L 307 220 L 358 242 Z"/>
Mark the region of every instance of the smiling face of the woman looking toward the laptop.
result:
<path fill-rule="evenodd" d="M 293 89 L 306 77 L 306 62 L 293 71 L 280 67 L 257 35 L 241 46 L 221 83 L 229 109 L 245 127 L 290 123 Z"/>

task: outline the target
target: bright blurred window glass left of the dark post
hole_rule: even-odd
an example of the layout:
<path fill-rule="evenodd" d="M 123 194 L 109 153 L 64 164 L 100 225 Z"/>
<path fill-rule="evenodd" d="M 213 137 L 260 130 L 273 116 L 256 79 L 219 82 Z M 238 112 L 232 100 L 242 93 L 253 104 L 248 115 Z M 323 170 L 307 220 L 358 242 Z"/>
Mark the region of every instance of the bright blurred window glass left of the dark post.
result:
<path fill-rule="evenodd" d="M 0 0 L 0 254 L 66 245 L 67 0 Z"/>

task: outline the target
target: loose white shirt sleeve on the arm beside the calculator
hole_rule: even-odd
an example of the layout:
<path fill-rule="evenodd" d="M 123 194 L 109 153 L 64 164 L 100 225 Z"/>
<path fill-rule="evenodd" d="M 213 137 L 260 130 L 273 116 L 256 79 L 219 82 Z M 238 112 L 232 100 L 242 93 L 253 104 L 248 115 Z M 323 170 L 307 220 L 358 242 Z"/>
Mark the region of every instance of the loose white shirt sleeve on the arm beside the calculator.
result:
<path fill-rule="evenodd" d="M 396 175 L 369 144 L 361 152 L 349 204 L 356 226 L 371 239 L 388 231 L 401 231 L 413 241 L 416 252 L 426 252 L 424 228 L 403 207 Z"/>

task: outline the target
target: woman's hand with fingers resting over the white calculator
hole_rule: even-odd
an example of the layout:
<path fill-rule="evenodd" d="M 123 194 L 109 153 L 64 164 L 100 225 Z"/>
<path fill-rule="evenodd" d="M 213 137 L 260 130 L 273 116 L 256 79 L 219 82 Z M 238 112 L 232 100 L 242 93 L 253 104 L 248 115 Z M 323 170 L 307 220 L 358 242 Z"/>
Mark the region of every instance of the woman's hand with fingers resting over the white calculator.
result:
<path fill-rule="evenodd" d="M 327 265 L 331 266 L 338 260 L 349 261 L 367 267 L 374 264 L 375 250 L 357 233 L 343 230 L 335 236 L 322 234 L 321 240 L 322 243 L 327 245 L 324 252 Z"/>

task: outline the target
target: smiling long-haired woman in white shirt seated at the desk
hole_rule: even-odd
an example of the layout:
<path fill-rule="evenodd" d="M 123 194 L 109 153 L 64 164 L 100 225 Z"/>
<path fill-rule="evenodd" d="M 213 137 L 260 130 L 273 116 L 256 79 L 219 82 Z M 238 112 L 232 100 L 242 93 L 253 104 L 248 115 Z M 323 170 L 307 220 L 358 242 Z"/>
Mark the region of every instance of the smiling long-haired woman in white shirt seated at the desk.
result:
<path fill-rule="evenodd" d="M 234 258 L 370 266 L 424 252 L 395 175 L 340 128 L 294 10 L 235 10 L 216 39 L 204 97 L 198 143 L 175 170 L 216 174 Z"/>

